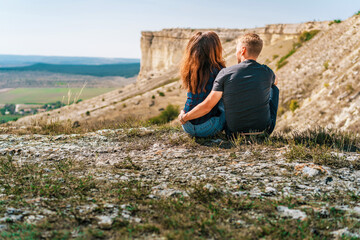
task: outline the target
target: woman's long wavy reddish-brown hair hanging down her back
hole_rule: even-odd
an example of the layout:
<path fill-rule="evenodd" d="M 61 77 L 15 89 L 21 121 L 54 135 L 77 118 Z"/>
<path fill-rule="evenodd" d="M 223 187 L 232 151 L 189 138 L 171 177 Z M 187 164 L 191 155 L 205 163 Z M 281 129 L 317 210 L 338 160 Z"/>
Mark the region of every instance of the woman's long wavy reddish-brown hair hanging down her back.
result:
<path fill-rule="evenodd" d="M 222 46 L 215 32 L 197 32 L 186 46 L 181 64 L 182 86 L 193 94 L 205 92 L 214 69 L 225 67 Z"/>

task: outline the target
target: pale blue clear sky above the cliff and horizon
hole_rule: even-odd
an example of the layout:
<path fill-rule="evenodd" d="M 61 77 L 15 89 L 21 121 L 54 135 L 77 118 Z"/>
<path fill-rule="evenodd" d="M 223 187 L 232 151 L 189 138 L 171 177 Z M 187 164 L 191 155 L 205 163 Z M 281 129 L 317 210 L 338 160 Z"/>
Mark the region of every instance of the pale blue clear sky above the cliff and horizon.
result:
<path fill-rule="evenodd" d="M 0 54 L 140 58 L 141 31 L 347 19 L 359 0 L 0 0 Z"/>

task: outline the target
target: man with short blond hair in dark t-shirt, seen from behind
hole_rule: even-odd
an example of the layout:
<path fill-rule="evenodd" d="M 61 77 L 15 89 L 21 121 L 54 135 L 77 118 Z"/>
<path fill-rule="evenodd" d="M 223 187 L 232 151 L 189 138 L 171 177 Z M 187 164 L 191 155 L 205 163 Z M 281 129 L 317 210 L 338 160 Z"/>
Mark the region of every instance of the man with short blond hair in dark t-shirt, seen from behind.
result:
<path fill-rule="evenodd" d="M 182 111 L 182 124 L 199 118 L 223 98 L 227 135 L 238 133 L 271 134 L 275 128 L 279 102 L 274 72 L 256 62 L 263 41 L 254 33 L 243 35 L 236 47 L 238 64 L 224 68 L 217 75 L 208 97 L 188 113 Z"/>

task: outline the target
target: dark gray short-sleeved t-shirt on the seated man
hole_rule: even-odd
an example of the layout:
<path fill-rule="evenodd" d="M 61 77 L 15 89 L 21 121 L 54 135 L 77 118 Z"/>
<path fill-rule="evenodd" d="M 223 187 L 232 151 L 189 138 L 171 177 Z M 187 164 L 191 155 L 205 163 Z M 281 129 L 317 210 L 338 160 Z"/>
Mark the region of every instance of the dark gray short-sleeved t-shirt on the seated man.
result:
<path fill-rule="evenodd" d="M 264 131 L 270 124 L 270 88 L 274 72 L 254 60 L 224 68 L 213 91 L 223 92 L 227 129 L 232 133 Z"/>

